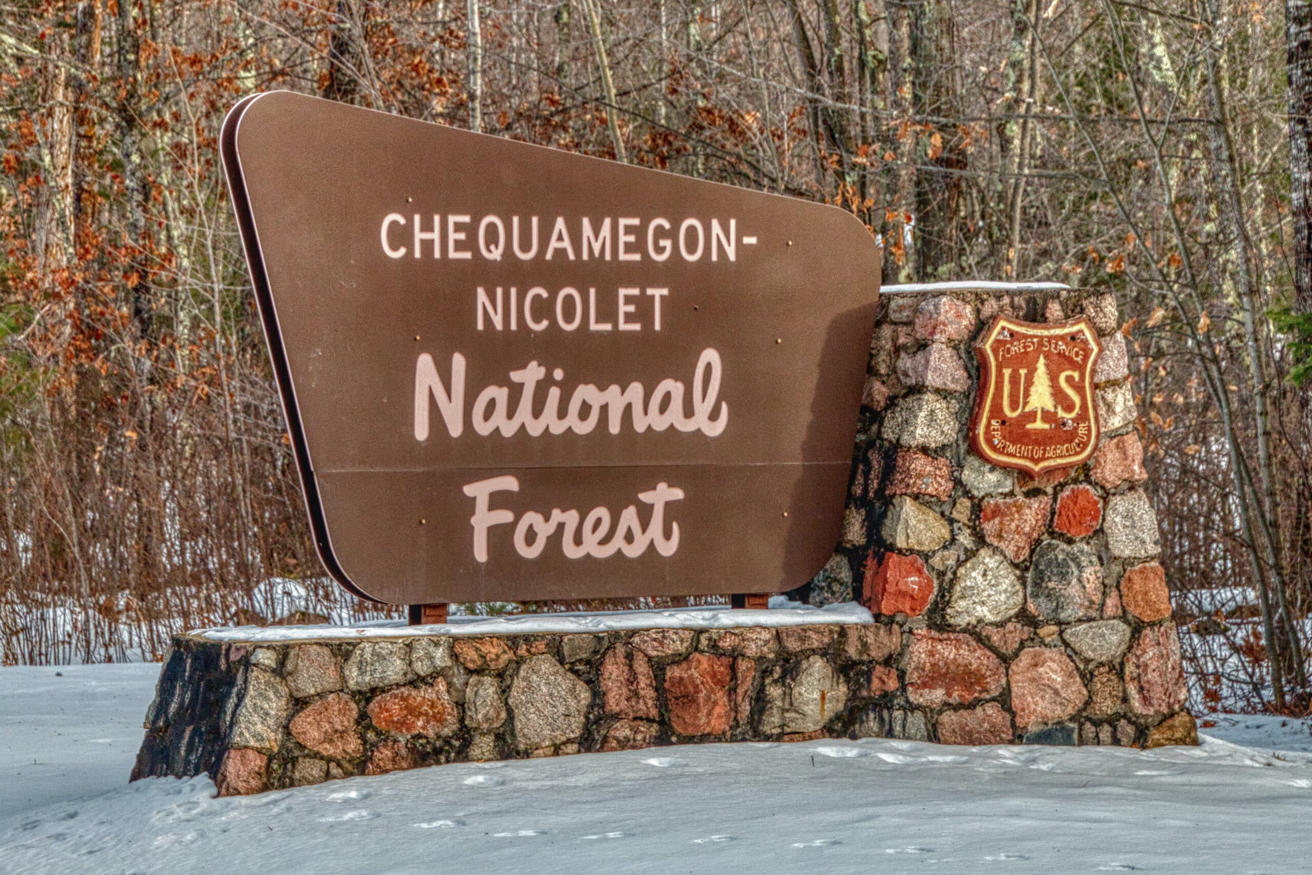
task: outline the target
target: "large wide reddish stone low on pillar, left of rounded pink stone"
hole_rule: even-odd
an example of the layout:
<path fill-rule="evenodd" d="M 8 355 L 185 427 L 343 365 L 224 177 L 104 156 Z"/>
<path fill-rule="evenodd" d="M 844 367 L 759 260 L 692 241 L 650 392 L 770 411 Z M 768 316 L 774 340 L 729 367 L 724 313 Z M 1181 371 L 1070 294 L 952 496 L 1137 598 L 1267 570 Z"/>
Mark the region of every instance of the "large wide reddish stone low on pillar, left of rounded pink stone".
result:
<path fill-rule="evenodd" d="M 966 704 L 1002 691 L 1002 662 L 962 632 L 912 632 L 907 698 L 912 704 Z"/>

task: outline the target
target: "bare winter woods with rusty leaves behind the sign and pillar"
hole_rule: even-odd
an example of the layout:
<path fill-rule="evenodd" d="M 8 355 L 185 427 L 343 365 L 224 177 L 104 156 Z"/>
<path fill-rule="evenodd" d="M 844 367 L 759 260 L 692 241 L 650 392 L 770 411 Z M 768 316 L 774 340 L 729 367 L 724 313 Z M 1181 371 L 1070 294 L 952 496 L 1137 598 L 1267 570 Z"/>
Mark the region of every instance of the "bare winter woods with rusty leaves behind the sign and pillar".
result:
<path fill-rule="evenodd" d="M 884 282 L 1114 290 L 1194 701 L 1307 711 L 1307 0 L 0 4 L 3 662 L 387 613 L 321 577 L 222 181 L 278 88 L 833 203 Z"/>

